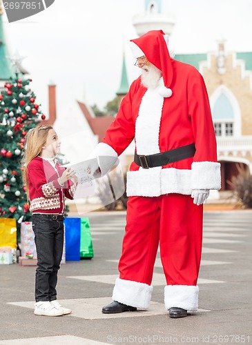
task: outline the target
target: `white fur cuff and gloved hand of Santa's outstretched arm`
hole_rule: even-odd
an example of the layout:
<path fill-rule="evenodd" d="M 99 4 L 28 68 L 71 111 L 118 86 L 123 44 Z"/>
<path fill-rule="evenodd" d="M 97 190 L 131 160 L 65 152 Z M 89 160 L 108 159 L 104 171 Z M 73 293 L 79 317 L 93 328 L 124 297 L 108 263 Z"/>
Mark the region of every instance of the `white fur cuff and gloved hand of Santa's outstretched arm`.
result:
<path fill-rule="evenodd" d="M 101 175 L 106 173 L 119 162 L 117 152 L 108 144 L 99 143 L 95 148 L 95 156 L 97 157 Z"/>

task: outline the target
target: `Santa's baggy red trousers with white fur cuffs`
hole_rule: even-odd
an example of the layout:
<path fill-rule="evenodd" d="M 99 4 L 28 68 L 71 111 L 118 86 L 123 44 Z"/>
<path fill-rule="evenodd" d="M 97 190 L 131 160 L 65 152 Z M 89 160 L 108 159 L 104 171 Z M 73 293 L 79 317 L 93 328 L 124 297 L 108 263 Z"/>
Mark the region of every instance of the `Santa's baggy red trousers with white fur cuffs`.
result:
<path fill-rule="evenodd" d="M 146 309 L 158 245 L 166 277 L 166 308 L 197 310 L 203 206 L 191 195 L 129 197 L 126 233 L 113 299 Z"/>

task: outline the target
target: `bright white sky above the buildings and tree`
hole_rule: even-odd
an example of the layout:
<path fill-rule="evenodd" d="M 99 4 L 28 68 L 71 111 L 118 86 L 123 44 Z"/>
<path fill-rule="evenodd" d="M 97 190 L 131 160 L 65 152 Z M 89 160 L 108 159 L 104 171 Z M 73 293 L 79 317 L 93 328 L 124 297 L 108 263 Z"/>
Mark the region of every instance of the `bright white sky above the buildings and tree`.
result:
<path fill-rule="evenodd" d="M 138 77 L 128 41 L 137 37 L 133 16 L 143 12 L 144 0 L 55 0 L 21 21 L 4 15 L 10 54 L 25 57 L 45 114 L 48 83 L 57 85 L 58 114 L 74 100 L 106 106 L 119 88 L 123 52 L 129 82 Z M 162 12 L 175 19 L 170 46 L 177 54 L 216 50 L 220 38 L 228 51 L 252 51 L 252 0 L 163 0 Z"/>

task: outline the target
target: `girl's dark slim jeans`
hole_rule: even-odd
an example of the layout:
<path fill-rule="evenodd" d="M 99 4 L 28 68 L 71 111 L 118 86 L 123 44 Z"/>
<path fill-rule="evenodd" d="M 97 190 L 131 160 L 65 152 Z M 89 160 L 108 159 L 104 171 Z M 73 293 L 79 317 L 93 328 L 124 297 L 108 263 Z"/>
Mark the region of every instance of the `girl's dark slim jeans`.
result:
<path fill-rule="evenodd" d="M 57 274 L 64 245 L 64 217 L 59 215 L 32 215 L 32 229 L 37 248 L 35 277 L 36 302 L 57 299 Z"/>

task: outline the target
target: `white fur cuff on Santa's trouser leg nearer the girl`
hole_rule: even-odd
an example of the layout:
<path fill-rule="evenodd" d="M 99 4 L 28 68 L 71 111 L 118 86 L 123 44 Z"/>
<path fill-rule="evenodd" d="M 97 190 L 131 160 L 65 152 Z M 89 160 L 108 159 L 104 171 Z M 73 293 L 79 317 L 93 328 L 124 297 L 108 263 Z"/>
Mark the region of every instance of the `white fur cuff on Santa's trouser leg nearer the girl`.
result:
<path fill-rule="evenodd" d="M 113 300 L 126 306 L 135 306 L 146 310 L 151 301 L 153 286 L 117 278 L 113 290 Z"/>

